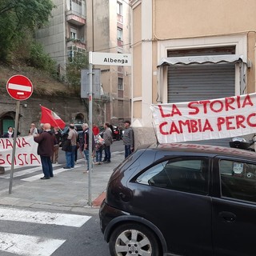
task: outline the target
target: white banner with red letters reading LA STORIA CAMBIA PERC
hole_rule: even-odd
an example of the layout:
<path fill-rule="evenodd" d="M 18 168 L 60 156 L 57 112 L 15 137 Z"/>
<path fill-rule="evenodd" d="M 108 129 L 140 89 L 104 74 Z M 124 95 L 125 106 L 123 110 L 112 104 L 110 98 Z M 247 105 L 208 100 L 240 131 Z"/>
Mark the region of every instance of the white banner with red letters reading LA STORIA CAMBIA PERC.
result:
<path fill-rule="evenodd" d="M 158 142 L 187 142 L 256 133 L 256 94 L 152 104 Z"/>

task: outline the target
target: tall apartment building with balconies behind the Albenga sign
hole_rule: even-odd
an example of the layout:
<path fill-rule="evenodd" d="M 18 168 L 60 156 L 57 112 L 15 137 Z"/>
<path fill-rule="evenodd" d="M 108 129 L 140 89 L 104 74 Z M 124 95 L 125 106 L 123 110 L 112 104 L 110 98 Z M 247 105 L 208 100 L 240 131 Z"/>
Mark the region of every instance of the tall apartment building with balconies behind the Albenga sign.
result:
<path fill-rule="evenodd" d="M 36 38 L 58 63 L 64 76 L 66 63 L 76 52 L 130 53 L 130 5 L 123 0 L 53 0 L 49 26 Z M 130 67 L 94 66 L 100 69 L 101 98 L 94 99 L 93 122 L 116 126 L 130 119 Z M 85 102 L 87 99 L 85 99 Z M 88 113 L 77 113 L 74 122 L 86 122 Z"/>

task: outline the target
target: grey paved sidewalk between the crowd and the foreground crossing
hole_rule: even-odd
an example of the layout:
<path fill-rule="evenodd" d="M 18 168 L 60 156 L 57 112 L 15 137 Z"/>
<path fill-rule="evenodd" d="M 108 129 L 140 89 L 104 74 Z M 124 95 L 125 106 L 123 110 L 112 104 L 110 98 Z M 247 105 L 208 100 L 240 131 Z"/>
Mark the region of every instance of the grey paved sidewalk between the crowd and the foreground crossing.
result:
<path fill-rule="evenodd" d="M 64 210 L 84 214 L 98 212 L 98 207 L 105 198 L 106 185 L 110 175 L 123 159 L 123 152 L 114 152 L 111 154 L 110 163 L 94 165 L 90 190 L 93 206 L 88 205 L 89 174 L 83 173 L 86 170 L 83 159 L 74 169 L 61 173 L 56 170 L 54 178 L 49 180 L 38 178 L 34 182 L 24 182 L 17 186 L 13 180 L 11 194 L 9 194 L 9 187 L 1 191 L 0 205 L 41 210 Z"/>

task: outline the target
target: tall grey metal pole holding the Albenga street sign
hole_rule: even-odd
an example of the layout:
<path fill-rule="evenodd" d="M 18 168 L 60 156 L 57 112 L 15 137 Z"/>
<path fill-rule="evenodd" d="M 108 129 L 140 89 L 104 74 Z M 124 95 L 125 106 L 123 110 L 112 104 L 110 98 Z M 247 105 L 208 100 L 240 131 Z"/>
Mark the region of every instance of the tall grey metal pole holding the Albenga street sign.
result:
<path fill-rule="evenodd" d="M 91 165 L 92 165 L 92 117 L 93 117 L 93 54 L 89 52 L 89 180 L 88 180 L 88 205 L 91 206 Z"/>

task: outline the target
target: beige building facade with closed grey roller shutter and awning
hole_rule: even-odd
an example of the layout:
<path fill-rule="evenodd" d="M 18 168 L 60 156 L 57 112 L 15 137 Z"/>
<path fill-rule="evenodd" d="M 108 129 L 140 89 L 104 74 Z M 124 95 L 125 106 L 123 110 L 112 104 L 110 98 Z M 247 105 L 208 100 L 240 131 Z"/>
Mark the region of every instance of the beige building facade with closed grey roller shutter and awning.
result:
<path fill-rule="evenodd" d="M 255 92 L 254 0 L 134 0 L 131 6 L 138 144 L 155 141 L 152 103 Z M 140 136 L 145 130 L 149 138 Z"/>

